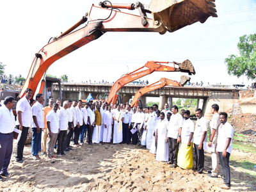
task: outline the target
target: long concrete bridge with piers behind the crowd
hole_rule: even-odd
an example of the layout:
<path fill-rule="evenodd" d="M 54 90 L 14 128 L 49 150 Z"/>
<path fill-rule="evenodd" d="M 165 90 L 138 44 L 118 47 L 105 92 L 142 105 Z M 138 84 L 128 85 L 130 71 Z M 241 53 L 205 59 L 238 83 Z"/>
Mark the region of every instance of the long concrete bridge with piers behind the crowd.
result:
<path fill-rule="evenodd" d="M 54 84 L 53 97 L 67 99 L 86 99 L 89 93 L 92 93 L 93 99 L 100 95 L 102 99 L 105 94 L 111 90 L 112 84 L 75 84 L 64 83 L 60 86 Z M 129 99 L 145 85 L 126 85 L 120 89 L 118 95 L 121 95 L 123 102 L 129 102 Z M 141 97 L 142 106 L 146 106 L 146 97 L 159 97 L 159 109 L 164 108 L 164 103 L 168 102 L 172 106 L 173 98 L 198 99 L 197 108 L 202 108 L 204 116 L 207 119 L 212 117 L 211 105 L 216 103 L 220 106 L 220 111 L 229 111 L 233 104 L 239 100 L 239 90 L 234 88 L 225 88 L 225 86 L 184 86 L 173 87 L 165 86 L 159 90 L 148 92 Z"/>

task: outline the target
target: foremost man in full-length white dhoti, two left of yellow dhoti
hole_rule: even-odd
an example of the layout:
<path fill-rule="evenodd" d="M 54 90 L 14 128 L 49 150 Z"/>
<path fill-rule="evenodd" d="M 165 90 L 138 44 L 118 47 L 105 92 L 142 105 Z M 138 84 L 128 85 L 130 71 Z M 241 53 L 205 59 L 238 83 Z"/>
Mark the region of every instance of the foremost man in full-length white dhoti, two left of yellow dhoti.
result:
<path fill-rule="evenodd" d="M 157 124 L 156 140 L 157 140 L 157 152 L 156 161 L 168 161 L 168 140 L 167 137 L 168 120 L 164 119 L 164 113 L 160 113 L 160 121 Z"/>

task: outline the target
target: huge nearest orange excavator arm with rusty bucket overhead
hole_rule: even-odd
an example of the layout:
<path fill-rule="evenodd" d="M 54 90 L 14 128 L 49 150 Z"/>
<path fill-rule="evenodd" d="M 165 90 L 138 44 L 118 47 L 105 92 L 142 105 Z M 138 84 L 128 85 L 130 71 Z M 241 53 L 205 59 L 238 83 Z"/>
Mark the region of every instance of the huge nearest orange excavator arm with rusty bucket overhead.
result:
<path fill-rule="evenodd" d="M 34 95 L 41 79 L 39 93 L 42 93 L 45 72 L 54 61 L 96 40 L 108 31 L 158 32 L 161 35 L 166 31 L 177 31 L 198 21 L 204 23 L 208 17 L 218 17 L 214 1 L 152 0 L 150 4 L 139 1 L 135 4 L 112 4 L 110 1 L 103 1 L 99 6 L 93 4 L 81 20 L 61 35 L 52 37 L 48 44 L 35 54 L 19 96 L 23 97 L 26 88 L 31 88 Z M 138 15 L 121 12 L 120 9 L 137 10 Z M 147 17 L 147 13 L 152 15 L 152 19 Z M 74 31 L 82 24 L 85 24 L 83 28 Z"/>

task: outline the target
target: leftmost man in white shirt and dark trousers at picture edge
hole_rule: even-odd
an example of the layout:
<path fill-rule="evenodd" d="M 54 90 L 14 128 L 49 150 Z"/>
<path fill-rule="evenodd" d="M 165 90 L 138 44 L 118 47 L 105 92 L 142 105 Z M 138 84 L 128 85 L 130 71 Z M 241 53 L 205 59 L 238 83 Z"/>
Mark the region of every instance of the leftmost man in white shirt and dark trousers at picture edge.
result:
<path fill-rule="evenodd" d="M 12 157 L 13 130 L 15 119 L 12 108 L 15 105 L 14 98 L 7 96 L 4 98 L 4 104 L 0 107 L 0 175 L 10 177 L 12 173 L 7 172 Z M 0 181 L 3 177 L 0 176 Z"/>

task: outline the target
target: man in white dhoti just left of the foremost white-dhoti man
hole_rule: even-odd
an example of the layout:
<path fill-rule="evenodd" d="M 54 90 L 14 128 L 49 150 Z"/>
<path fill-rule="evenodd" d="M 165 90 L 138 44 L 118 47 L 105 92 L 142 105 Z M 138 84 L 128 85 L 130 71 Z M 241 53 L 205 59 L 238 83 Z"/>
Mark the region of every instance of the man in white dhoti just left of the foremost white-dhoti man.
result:
<path fill-rule="evenodd" d="M 153 139 L 153 134 L 154 134 L 154 125 L 156 124 L 156 120 L 157 120 L 157 115 L 153 113 L 153 107 L 149 108 L 149 115 L 148 115 L 148 120 L 147 120 L 147 125 L 146 125 L 146 129 L 147 129 L 147 149 L 150 149 L 151 145 L 152 145 L 152 139 Z"/>

